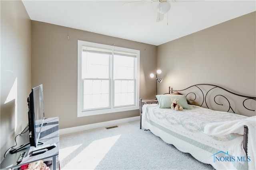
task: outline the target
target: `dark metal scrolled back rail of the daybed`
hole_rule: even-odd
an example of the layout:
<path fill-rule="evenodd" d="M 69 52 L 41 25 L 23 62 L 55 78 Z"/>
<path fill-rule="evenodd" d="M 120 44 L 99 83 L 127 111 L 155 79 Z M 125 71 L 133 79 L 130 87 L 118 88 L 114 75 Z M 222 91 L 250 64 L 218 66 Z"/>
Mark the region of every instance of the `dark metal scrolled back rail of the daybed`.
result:
<path fill-rule="evenodd" d="M 192 91 L 193 88 L 196 88 L 196 90 L 194 90 L 196 92 Z M 244 110 L 250 111 L 249 114 L 256 114 L 256 97 L 236 94 L 214 84 L 195 84 L 183 90 L 172 90 L 169 87 L 169 91 L 170 93 L 179 92 L 180 94 L 183 94 L 186 96 L 189 104 L 207 107 L 208 109 L 213 110 L 226 111 L 237 114 L 243 113 L 243 115 L 246 115 L 244 114 L 245 111 L 239 111 L 239 109 L 241 109 L 240 106 L 243 106 L 245 108 Z M 234 100 L 234 96 L 232 95 L 239 96 L 240 98 Z M 247 105 L 245 105 L 245 103 Z M 223 106 L 224 108 L 220 109 L 220 107 L 218 107 L 216 109 L 216 107 L 213 105 Z"/>

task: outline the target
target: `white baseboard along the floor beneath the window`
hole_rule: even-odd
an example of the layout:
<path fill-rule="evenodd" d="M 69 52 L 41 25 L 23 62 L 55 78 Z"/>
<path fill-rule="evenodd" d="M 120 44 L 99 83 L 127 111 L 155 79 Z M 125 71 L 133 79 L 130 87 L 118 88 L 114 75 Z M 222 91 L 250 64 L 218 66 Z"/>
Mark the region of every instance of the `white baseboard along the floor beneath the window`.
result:
<path fill-rule="evenodd" d="M 112 121 L 104 121 L 104 122 L 93 123 L 93 124 L 89 124 L 89 125 L 69 127 L 69 128 L 65 128 L 65 129 L 60 129 L 59 134 L 60 135 L 65 135 L 65 134 L 68 134 L 68 133 L 86 131 L 86 130 L 96 129 L 96 128 L 100 128 L 100 127 L 109 127 L 109 126 L 112 126 L 112 125 L 127 123 L 127 122 L 130 122 L 130 121 L 136 121 L 136 120 L 140 120 L 140 116 L 128 117 L 128 118 L 117 119 L 117 120 L 112 120 Z"/>

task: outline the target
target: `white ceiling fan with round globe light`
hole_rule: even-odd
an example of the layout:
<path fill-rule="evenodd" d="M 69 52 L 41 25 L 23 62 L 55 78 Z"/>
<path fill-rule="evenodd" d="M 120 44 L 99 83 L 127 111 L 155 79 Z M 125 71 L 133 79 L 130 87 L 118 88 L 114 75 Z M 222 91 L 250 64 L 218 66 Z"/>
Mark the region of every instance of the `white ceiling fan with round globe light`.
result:
<path fill-rule="evenodd" d="M 134 5 L 143 5 L 153 2 L 159 2 L 157 6 L 157 17 L 156 22 L 160 22 L 164 20 L 164 14 L 167 13 L 171 8 L 170 0 L 139 0 L 139 1 L 132 1 L 124 3 L 125 6 L 134 6 Z M 202 0 L 172 0 L 172 2 L 193 2 L 193 1 L 202 1 Z M 168 24 L 168 21 L 167 21 Z"/>

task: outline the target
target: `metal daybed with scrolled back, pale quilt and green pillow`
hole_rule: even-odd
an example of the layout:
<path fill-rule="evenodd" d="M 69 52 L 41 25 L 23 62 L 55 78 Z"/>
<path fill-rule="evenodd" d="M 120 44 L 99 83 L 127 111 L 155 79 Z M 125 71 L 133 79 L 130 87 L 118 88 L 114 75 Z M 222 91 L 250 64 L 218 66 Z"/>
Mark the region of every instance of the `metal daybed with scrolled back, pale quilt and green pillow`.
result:
<path fill-rule="evenodd" d="M 184 109 L 171 109 L 171 98 L 178 98 Z M 169 87 L 154 100 L 140 99 L 140 129 L 215 169 L 255 170 L 255 108 L 256 97 L 213 84 Z"/>

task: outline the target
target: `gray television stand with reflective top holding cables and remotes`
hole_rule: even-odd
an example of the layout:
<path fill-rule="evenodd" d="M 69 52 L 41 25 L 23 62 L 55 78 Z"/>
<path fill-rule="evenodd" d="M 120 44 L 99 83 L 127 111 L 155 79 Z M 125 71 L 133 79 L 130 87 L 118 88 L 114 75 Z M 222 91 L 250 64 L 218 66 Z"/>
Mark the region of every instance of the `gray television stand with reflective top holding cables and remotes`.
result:
<path fill-rule="evenodd" d="M 32 151 L 35 147 L 23 147 L 19 149 L 14 154 L 7 154 L 4 160 L 0 164 L 0 168 L 2 169 L 14 169 L 19 168 L 22 165 L 29 164 L 31 162 L 36 162 L 39 160 L 49 160 L 52 159 L 52 170 L 58 170 L 59 167 L 57 166 L 57 157 L 59 155 L 59 118 L 58 117 L 51 117 L 46 119 L 47 124 L 42 127 L 42 132 L 40 134 L 40 142 L 44 143 L 44 145 L 52 145 L 56 144 L 56 147 L 46 150 L 46 152 L 32 155 Z M 20 135 L 18 138 L 23 140 L 28 139 L 29 137 L 28 132 Z M 22 141 L 22 140 L 17 140 Z M 19 143 L 19 145 L 24 143 Z M 26 145 L 26 144 L 25 144 Z M 40 147 L 39 145 L 38 147 Z M 22 152 L 26 152 L 24 158 L 20 163 L 17 163 L 17 159 L 19 158 Z"/>

